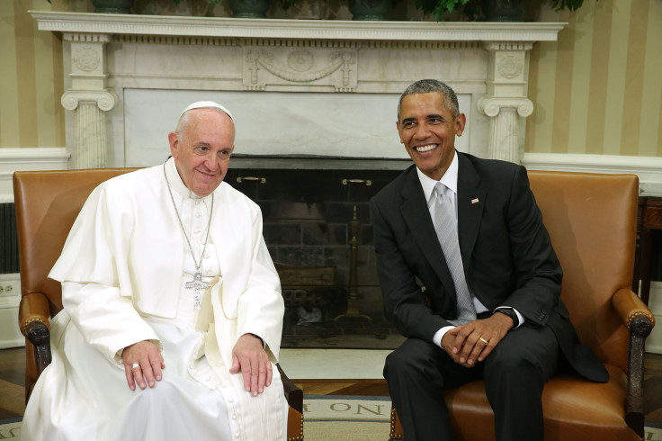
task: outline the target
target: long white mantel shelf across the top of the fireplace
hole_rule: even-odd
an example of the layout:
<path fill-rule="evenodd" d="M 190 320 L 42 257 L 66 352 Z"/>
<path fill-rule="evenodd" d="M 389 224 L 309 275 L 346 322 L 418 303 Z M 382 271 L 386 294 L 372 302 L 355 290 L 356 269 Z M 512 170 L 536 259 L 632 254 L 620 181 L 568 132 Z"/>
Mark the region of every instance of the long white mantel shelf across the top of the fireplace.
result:
<path fill-rule="evenodd" d="M 567 23 L 353 22 L 31 11 L 40 31 L 286 40 L 557 40 Z"/>

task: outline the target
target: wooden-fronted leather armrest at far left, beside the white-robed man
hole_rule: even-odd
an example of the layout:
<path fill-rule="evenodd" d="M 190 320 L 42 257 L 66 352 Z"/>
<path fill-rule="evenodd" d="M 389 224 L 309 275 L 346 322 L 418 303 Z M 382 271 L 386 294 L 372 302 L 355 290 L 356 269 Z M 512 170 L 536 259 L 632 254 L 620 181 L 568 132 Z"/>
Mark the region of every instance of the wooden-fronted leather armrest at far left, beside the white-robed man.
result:
<path fill-rule="evenodd" d="M 29 293 L 21 297 L 18 324 L 21 333 L 34 347 L 37 375 L 50 365 L 50 307 L 42 293 Z"/>

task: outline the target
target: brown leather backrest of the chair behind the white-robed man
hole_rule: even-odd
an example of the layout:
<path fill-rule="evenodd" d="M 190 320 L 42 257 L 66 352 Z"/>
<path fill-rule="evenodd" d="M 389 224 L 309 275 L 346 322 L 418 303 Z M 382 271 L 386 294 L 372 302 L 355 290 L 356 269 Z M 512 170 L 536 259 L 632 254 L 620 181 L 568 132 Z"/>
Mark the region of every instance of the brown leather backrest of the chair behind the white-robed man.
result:
<path fill-rule="evenodd" d="M 48 278 L 71 226 L 94 187 L 135 168 L 30 171 L 13 174 L 21 294 L 43 293 L 50 315 L 62 309 L 60 284 Z"/>

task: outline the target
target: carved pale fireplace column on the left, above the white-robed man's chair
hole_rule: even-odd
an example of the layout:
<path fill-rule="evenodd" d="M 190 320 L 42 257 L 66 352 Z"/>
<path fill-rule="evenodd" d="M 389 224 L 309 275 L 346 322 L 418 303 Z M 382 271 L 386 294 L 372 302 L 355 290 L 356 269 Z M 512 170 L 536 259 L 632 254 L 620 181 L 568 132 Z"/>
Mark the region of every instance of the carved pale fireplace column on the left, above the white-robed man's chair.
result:
<path fill-rule="evenodd" d="M 117 103 L 117 95 L 106 88 L 105 46 L 107 34 L 65 33 L 71 41 L 71 88 L 62 95 L 65 109 L 76 115 L 75 168 L 106 166 L 105 112 Z"/>

